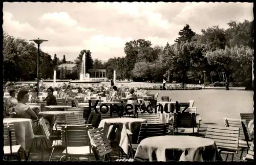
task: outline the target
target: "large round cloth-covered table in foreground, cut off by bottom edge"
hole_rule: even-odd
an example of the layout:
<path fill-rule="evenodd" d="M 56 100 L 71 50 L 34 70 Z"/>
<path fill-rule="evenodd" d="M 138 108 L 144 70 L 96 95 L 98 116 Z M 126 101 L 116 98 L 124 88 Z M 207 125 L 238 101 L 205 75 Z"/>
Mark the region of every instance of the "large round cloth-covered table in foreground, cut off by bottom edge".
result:
<path fill-rule="evenodd" d="M 155 136 L 141 140 L 136 161 L 222 160 L 213 140 L 195 136 Z"/>

